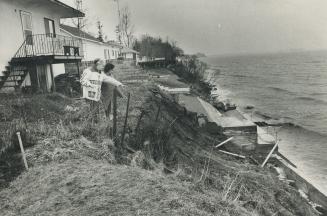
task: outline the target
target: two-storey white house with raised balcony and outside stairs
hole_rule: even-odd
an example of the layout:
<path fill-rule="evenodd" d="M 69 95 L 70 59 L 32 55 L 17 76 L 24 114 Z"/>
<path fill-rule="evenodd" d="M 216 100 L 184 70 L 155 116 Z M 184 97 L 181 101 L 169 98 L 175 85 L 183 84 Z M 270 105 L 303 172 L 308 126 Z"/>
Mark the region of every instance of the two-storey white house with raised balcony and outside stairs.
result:
<path fill-rule="evenodd" d="M 81 39 L 58 34 L 60 19 L 84 16 L 58 0 L 1 0 L 0 89 L 54 91 L 54 74 L 84 56 Z"/>

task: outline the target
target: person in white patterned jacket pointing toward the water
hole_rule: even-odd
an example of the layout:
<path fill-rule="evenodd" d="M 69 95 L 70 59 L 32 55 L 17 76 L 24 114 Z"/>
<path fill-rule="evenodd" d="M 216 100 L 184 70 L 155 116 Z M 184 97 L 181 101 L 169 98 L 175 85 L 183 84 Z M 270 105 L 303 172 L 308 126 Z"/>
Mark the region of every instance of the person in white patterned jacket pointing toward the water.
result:
<path fill-rule="evenodd" d="M 93 65 L 86 68 L 81 76 L 81 85 L 83 88 L 83 98 L 90 103 L 91 112 L 96 115 L 99 110 L 99 101 L 101 97 L 102 82 L 113 86 L 123 86 L 121 82 L 113 77 L 103 73 L 105 62 L 101 59 L 95 59 Z"/>

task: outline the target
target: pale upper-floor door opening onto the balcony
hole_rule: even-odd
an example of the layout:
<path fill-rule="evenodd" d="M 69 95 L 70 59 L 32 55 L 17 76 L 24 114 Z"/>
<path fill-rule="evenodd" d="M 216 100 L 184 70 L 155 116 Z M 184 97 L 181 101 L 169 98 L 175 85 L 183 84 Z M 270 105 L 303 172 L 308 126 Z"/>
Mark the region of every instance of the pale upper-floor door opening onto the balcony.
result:
<path fill-rule="evenodd" d="M 26 56 L 33 54 L 33 26 L 32 14 L 26 11 L 20 11 L 22 21 L 23 36 L 26 41 L 25 53 Z"/>

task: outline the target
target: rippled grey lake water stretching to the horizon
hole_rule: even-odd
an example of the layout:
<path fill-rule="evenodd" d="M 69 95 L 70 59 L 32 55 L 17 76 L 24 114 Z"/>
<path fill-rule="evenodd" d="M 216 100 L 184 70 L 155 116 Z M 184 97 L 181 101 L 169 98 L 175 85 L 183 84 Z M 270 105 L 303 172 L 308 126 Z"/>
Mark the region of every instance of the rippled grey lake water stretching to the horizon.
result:
<path fill-rule="evenodd" d="M 327 52 L 207 57 L 220 98 L 277 129 L 280 151 L 327 194 Z M 250 113 L 249 113 L 250 112 Z"/>

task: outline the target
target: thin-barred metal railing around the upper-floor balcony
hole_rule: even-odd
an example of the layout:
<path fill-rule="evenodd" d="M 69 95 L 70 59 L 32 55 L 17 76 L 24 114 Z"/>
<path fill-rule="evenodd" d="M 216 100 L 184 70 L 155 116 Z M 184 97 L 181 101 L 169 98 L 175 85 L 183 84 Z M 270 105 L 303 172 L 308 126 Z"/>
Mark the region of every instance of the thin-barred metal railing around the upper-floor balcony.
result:
<path fill-rule="evenodd" d="M 82 40 L 51 34 L 30 35 L 26 37 L 14 58 L 53 55 L 83 57 Z"/>

